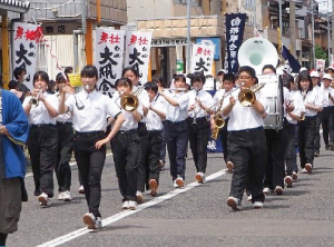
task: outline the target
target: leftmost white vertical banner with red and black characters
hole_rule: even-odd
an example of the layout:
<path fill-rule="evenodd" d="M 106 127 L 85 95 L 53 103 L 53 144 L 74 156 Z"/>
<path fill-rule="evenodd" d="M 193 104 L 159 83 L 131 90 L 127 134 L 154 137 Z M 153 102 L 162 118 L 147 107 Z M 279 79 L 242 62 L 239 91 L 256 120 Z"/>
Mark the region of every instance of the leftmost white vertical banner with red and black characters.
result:
<path fill-rule="evenodd" d="M 12 37 L 12 68 L 24 68 L 27 79 L 23 82 L 30 90 L 36 72 L 37 46 L 42 37 L 40 26 L 14 22 Z"/>

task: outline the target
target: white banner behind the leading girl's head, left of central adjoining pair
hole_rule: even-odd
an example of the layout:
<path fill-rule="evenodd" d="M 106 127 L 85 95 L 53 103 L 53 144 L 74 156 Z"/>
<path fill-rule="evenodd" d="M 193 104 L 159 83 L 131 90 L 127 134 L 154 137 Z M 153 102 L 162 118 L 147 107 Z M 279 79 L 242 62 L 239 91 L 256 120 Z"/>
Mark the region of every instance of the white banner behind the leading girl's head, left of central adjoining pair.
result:
<path fill-rule="evenodd" d="M 96 29 L 95 61 L 99 72 L 98 89 L 111 98 L 115 82 L 121 78 L 125 31 L 110 28 Z"/>

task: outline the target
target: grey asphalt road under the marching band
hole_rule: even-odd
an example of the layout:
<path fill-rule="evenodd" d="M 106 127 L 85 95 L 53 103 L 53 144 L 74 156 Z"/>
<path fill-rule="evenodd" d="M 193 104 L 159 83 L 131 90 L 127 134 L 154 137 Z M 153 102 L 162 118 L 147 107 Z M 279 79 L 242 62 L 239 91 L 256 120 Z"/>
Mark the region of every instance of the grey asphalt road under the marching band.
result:
<path fill-rule="evenodd" d="M 232 211 L 226 205 L 232 176 L 223 170 L 222 154 L 209 154 L 207 176 L 213 176 L 197 186 L 189 152 L 185 189 L 174 189 L 169 170 L 163 171 L 158 197 L 151 200 L 145 195 L 146 204 L 137 211 L 122 211 L 112 156 L 108 156 L 100 206 L 105 227 L 92 233 L 84 229 L 87 206 L 77 192 L 76 166 L 73 200 L 62 202 L 56 197 L 46 209 L 32 195 L 30 176 L 26 179 L 29 201 L 8 246 L 334 246 L 333 158 L 334 151 L 322 149 L 313 174 L 299 174 L 298 182 L 282 196 L 266 196 L 263 209 L 253 209 L 245 196 L 243 210 Z"/>

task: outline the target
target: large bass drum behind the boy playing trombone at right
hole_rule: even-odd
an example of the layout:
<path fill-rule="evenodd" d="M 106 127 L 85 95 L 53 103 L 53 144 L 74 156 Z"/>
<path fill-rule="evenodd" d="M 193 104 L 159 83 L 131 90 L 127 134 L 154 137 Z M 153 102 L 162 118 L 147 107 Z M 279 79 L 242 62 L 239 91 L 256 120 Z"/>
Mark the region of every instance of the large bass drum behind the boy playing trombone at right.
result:
<path fill-rule="evenodd" d="M 264 129 L 279 130 L 283 128 L 283 85 L 279 76 L 257 76 L 258 83 L 266 82 L 261 91 L 267 98 L 267 117 L 264 119 Z"/>

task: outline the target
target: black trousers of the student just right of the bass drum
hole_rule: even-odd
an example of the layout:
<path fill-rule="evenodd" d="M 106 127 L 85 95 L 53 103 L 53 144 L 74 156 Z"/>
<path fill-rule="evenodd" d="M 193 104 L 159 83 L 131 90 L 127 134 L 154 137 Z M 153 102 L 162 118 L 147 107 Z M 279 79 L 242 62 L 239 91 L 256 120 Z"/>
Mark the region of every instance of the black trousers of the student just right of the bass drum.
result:
<path fill-rule="evenodd" d="M 284 140 L 285 140 L 285 164 L 286 164 L 286 174 L 292 176 L 296 166 L 296 148 L 295 148 L 295 128 L 296 125 L 289 124 L 286 119 L 283 122 L 284 128 Z"/>

